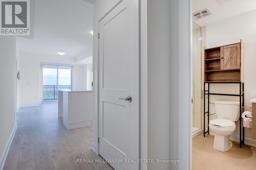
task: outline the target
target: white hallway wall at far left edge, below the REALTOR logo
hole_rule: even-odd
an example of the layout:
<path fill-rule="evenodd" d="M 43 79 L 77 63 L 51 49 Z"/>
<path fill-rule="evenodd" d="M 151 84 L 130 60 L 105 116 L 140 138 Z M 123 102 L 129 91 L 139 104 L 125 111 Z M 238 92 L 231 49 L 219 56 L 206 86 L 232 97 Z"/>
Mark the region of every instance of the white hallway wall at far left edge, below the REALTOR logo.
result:
<path fill-rule="evenodd" d="M 0 37 L 0 168 L 16 123 L 16 38 Z"/>

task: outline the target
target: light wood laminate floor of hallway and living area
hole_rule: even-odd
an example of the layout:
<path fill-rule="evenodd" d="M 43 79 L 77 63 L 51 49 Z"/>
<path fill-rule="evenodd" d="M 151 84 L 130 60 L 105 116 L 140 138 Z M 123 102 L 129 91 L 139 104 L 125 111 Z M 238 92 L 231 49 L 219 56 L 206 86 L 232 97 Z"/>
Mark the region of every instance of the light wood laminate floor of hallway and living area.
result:
<path fill-rule="evenodd" d="M 4 170 L 112 169 L 106 163 L 77 163 L 102 158 L 91 150 L 91 127 L 67 130 L 58 118 L 56 102 L 20 108 L 17 125 Z"/>

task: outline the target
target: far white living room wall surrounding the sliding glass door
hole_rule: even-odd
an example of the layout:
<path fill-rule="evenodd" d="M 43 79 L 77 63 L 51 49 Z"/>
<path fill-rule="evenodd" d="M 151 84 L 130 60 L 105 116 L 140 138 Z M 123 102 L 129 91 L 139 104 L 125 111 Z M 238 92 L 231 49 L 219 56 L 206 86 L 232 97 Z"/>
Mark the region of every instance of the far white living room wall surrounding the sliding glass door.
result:
<path fill-rule="evenodd" d="M 72 65 L 73 89 L 86 90 L 86 66 L 76 65 L 75 62 L 76 58 L 71 57 L 20 52 L 20 107 L 35 106 L 42 101 L 41 63 Z"/>

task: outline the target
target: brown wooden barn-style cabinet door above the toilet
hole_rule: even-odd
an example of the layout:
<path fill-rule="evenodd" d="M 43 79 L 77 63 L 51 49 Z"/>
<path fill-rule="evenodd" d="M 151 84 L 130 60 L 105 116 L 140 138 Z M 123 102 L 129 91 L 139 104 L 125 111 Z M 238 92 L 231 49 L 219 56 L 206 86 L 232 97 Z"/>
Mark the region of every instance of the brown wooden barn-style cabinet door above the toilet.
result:
<path fill-rule="evenodd" d="M 221 47 L 221 69 L 240 68 L 240 43 Z"/>

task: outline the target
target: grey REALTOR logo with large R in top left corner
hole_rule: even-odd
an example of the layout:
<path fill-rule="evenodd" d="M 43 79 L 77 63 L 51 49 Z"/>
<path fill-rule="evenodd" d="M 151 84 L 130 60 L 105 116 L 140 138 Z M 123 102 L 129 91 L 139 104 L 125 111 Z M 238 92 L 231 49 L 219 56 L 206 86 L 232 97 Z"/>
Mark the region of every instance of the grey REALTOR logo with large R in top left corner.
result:
<path fill-rule="evenodd" d="M 29 0 L 0 0 L 0 35 L 29 35 Z"/>

